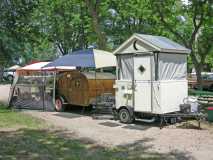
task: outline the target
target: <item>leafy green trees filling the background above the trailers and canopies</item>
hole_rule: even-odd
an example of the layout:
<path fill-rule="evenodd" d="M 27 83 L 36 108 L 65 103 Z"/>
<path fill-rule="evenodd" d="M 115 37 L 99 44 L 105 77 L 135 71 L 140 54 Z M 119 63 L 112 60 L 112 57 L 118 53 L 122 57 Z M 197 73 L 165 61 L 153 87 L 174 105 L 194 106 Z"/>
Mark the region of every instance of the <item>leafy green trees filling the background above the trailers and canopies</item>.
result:
<path fill-rule="evenodd" d="M 89 47 L 111 51 L 144 33 L 191 49 L 198 77 L 204 64 L 213 66 L 212 0 L 2 0 L 0 20 L 0 61 L 48 60 Z"/>

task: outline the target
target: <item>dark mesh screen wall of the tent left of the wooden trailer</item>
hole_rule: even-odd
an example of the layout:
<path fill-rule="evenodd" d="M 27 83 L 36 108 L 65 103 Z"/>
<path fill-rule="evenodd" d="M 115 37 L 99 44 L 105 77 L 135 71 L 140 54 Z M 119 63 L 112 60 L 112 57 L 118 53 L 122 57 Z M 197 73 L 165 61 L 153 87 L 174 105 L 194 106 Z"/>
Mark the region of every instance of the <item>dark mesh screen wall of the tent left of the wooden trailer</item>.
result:
<path fill-rule="evenodd" d="M 54 110 L 52 74 L 19 76 L 14 81 L 10 106 L 20 109 Z"/>

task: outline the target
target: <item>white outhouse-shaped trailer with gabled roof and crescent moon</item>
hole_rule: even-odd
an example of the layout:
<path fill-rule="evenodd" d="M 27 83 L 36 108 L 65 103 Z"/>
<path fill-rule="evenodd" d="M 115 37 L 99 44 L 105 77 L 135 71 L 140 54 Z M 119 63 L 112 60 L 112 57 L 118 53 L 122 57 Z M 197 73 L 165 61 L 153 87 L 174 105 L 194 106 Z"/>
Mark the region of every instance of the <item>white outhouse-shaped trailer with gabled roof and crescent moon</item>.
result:
<path fill-rule="evenodd" d="M 115 108 L 121 122 L 180 111 L 188 96 L 190 50 L 168 38 L 133 34 L 118 47 Z"/>

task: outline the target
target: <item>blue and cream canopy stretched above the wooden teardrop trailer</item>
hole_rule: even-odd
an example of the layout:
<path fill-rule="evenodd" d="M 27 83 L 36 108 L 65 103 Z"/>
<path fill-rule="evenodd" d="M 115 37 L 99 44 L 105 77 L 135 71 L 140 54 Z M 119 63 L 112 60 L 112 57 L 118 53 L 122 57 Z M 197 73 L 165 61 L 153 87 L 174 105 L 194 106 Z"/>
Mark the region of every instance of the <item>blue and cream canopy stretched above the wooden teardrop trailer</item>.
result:
<path fill-rule="evenodd" d="M 70 66 L 92 68 L 115 67 L 116 58 L 112 53 L 107 51 L 87 49 L 62 56 L 52 63 L 45 65 L 43 68 Z"/>

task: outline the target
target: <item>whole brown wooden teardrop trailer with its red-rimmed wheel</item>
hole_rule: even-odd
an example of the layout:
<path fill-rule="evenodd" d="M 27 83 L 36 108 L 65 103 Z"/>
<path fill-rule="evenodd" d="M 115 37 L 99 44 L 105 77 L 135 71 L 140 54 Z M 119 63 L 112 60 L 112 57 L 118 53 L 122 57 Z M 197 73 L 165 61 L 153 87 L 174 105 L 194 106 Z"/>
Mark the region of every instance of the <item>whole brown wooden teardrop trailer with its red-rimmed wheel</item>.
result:
<path fill-rule="evenodd" d="M 57 75 L 55 109 L 63 110 L 64 104 L 88 107 L 101 97 L 115 95 L 115 75 L 102 72 L 73 70 Z"/>

